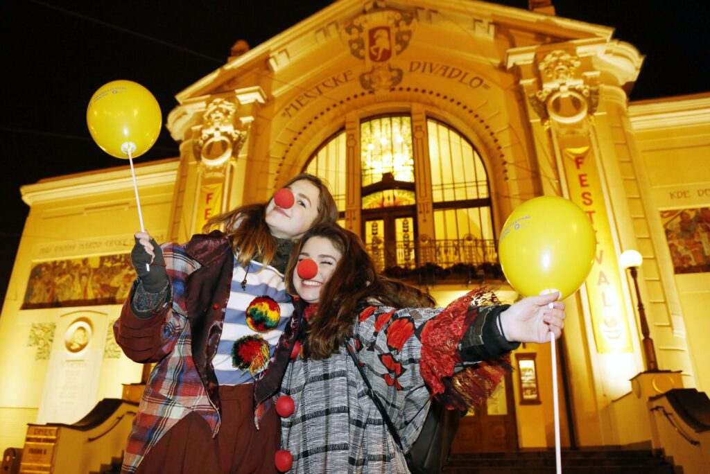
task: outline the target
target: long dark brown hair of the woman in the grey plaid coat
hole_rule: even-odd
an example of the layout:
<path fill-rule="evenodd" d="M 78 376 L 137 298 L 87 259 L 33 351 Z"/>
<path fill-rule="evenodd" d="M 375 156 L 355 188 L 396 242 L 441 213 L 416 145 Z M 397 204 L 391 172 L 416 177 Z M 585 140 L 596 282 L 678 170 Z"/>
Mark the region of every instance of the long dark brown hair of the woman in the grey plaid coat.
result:
<path fill-rule="evenodd" d="M 434 299 L 415 287 L 378 275 L 375 263 L 358 236 L 337 224 L 320 224 L 305 233 L 291 253 L 286 270 L 286 287 L 296 294 L 293 272 L 301 248 L 309 238 L 327 238 L 340 253 L 330 280 L 322 287 L 320 303 L 309 324 L 302 328 L 303 351 L 314 359 L 327 358 L 338 351 L 350 334 L 357 312 L 368 299 L 377 299 L 394 308 L 433 307 Z"/>

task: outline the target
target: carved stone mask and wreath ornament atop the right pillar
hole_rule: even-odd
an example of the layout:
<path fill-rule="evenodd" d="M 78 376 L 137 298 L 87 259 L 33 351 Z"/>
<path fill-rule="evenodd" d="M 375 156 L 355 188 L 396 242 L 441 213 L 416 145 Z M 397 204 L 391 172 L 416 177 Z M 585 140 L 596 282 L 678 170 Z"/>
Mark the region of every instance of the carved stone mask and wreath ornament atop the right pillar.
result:
<path fill-rule="evenodd" d="M 599 87 L 587 84 L 577 74 L 579 57 L 556 50 L 545 56 L 537 66 L 542 89 L 528 93 L 528 101 L 545 128 L 550 118 L 560 123 L 577 123 L 593 118 L 599 104 Z"/>

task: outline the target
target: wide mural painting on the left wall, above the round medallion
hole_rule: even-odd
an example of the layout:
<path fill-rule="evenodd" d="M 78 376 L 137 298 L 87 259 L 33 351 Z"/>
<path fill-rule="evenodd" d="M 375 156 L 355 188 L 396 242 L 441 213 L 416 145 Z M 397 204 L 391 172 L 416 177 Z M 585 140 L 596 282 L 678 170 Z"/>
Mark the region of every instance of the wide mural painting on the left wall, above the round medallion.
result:
<path fill-rule="evenodd" d="M 128 253 L 35 263 L 22 309 L 120 304 L 135 279 Z"/>

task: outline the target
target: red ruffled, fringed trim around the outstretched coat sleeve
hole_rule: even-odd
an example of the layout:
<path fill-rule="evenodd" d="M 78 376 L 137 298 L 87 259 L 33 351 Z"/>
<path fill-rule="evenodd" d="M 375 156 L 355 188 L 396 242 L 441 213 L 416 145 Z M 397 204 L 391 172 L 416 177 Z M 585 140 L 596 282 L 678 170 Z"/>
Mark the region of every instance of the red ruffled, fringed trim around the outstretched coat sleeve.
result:
<path fill-rule="evenodd" d="M 466 407 L 462 406 L 464 402 L 481 404 L 491 396 L 506 373 L 508 364 L 501 360 L 501 365 L 479 363 L 457 374 L 453 380 L 450 378 L 454 375 L 454 365 L 461 362 L 458 353 L 459 341 L 479 315 L 479 307 L 493 304 L 500 304 L 493 292 L 484 289 L 471 291 L 427 321 L 420 334 L 420 373 L 434 395 L 449 392 L 446 400 L 442 401 L 450 409 L 465 410 Z M 452 390 L 459 394 L 450 393 Z"/>

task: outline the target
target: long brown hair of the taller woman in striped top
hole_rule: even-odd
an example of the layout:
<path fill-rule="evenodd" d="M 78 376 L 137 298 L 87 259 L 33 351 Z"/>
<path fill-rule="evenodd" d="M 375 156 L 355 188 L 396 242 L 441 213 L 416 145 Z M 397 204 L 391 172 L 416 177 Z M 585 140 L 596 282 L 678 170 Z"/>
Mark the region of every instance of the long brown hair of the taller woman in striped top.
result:
<path fill-rule="evenodd" d="M 318 215 L 313 224 L 335 222 L 338 219 L 338 209 L 323 180 L 303 173 L 287 182 L 284 187 L 300 180 L 309 181 L 318 188 Z M 204 224 L 202 231 L 207 233 L 212 228 L 223 228 L 226 236 L 231 239 L 240 265 L 248 266 L 253 258 L 258 258 L 263 265 L 268 265 L 276 254 L 276 239 L 266 224 L 266 206 L 269 202 L 271 199 L 262 204 L 248 204 L 214 216 Z"/>

